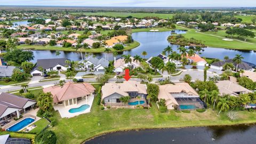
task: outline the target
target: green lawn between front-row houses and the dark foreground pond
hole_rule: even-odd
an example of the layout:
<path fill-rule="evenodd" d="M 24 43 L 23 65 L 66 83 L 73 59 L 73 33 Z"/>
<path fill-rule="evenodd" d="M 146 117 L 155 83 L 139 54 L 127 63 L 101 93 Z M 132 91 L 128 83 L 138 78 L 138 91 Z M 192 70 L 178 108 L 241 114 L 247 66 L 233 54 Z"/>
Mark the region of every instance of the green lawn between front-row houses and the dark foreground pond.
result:
<path fill-rule="evenodd" d="M 131 129 L 233 125 L 256 122 L 256 113 L 249 111 L 239 111 L 238 119 L 230 121 L 226 114 L 221 113 L 218 116 L 217 111 L 211 109 L 204 113 L 191 111 L 190 114 L 185 114 L 175 113 L 172 110 L 167 113 L 160 113 L 156 103 L 153 103 L 151 109 L 110 108 L 101 110 L 95 99 L 91 113 L 73 118 L 60 118 L 59 113 L 55 112 L 54 117 L 57 119 L 58 125 L 50 130 L 57 134 L 57 143 L 82 143 L 95 135 Z"/>

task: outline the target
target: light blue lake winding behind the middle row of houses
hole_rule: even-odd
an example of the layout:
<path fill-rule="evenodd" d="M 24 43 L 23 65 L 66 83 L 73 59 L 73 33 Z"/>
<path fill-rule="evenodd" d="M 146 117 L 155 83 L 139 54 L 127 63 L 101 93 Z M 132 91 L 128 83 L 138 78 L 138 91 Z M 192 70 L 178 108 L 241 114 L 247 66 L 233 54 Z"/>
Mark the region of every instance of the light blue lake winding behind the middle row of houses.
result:
<path fill-rule="evenodd" d="M 174 51 L 177 51 L 179 45 L 170 44 L 167 41 L 167 37 L 172 33 L 183 34 L 186 31 L 183 30 L 174 30 L 174 31 L 165 31 L 165 32 L 140 32 L 133 33 L 132 37 L 135 41 L 140 42 L 140 46 L 132 49 L 130 51 L 124 51 L 119 53 L 122 54 L 131 54 L 134 56 L 135 54 L 141 55 L 143 51 L 147 52 L 146 58 L 151 56 L 156 56 L 159 53 L 162 53 L 163 49 L 168 45 L 172 46 Z M 65 48 L 63 48 L 65 49 Z M 202 52 L 201 56 L 206 58 L 218 58 L 223 59 L 225 56 L 229 58 L 234 58 L 236 54 L 242 54 L 244 57 L 244 61 L 251 62 L 256 64 L 256 52 L 254 51 L 238 51 L 238 50 L 230 50 L 230 49 L 220 49 L 207 47 Z M 61 52 L 61 54 L 57 57 L 55 55 L 55 51 L 34 51 L 35 62 L 37 59 L 45 59 L 45 58 L 67 58 L 70 60 L 81 60 L 81 54 L 79 52 Z M 84 53 L 85 55 L 85 53 Z M 96 57 L 106 57 L 106 53 L 96 53 Z M 119 56 L 120 56 L 119 55 Z M 113 55 L 109 53 L 109 60 L 113 60 Z"/>

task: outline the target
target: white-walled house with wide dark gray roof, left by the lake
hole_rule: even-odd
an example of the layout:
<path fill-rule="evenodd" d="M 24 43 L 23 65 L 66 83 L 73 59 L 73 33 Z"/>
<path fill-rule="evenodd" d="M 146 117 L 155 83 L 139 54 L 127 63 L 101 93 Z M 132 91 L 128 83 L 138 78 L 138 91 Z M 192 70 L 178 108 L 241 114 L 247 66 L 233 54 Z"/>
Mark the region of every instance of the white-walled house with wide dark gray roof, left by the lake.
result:
<path fill-rule="evenodd" d="M 43 72 L 39 71 L 39 67 L 42 67 L 44 71 L 52 71 L 52 70 L 67 70 L 67 67 L 65 67 L 66 64 L 66 58 L 59 58 L 59 59 L 38 59 L 36 62 L 36 66 L 31 70 L 30 74 L 32 76 L 42 76 Z"/>

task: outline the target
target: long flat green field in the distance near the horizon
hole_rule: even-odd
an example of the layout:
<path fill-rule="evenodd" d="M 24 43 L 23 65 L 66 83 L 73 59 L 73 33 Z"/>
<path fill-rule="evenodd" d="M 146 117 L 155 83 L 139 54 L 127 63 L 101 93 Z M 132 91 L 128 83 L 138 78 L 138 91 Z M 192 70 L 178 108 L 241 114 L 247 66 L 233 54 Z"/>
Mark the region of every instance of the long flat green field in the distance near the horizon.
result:
<path fill-rule="evenodd" d="M 81 12 L 70 13 L 70 14 L 81 14 Z M 173 17 L 173 14 L 167 14 L 167 13 L 82 12 L 82 14 L 86 16 L 95 15 L 95 16 L 105 16 L 105 17 L 128 17 L 131 15 L 134 18 L 159 17 L 160 19 L 168 19 L 168 18 L 171 19 Z"/>

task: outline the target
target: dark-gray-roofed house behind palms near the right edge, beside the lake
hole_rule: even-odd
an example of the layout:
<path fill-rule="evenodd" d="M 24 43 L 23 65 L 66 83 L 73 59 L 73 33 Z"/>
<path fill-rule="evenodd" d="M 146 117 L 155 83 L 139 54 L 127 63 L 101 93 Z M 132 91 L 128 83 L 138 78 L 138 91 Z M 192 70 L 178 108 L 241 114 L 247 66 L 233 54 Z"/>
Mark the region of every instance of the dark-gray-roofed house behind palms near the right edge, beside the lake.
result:
<path fill-rule="evenodd" d="M 225 65 L 225 63 L 233 63 L 233 65 L 236 67 L 236 63 L 233 62 L 233 59 L 228 59 L 228 60 L 224 60 L 224 61 L 217 61 L 217 62 L 213 62 L 211 64 L 211 68 L 213 69 L 218 69 L 218 70 L 222 70 L 223 69 L 223 65 Z M 243 69 L 243 70 L 253 70 L 252 66 L 248 65 L 248 63 L 242 61 L 241 63 L 238 64 L 237 69 Z"/>

